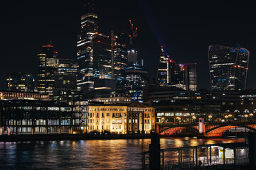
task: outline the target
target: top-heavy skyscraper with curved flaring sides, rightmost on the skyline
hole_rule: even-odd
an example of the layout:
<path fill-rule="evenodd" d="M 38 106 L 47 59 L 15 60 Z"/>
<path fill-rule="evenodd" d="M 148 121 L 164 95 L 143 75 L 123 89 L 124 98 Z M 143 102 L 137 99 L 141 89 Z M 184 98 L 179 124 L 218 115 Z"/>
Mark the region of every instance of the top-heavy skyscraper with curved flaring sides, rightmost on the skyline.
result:
<path fill-rule="evenodd" d="M 246 87 L 250 52 L 243 47 L 210 45 L 210 84 L 214 91 L 243 90 Z"/>

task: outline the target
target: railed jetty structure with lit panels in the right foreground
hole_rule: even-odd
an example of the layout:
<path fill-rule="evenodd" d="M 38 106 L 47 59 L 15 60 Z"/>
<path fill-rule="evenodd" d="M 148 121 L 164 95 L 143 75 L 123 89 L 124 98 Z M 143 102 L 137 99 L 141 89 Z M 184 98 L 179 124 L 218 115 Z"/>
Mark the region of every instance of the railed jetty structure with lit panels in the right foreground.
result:
<path fill-rule="evenodd" d="M 216 168 L 215 165 L 247 165 L 249 164 L 248 154 L 238 154 L 234 152 L 235 158 L 219 157 L 218 152 L 214 152 L 213 147 L 233 148 L 233 149 L 248 149 L 245 143 L 233 144 L 213 144 L 200 145 L 196 147 L 180 147 L 160 149 L 160 166 L 161 169 L 198 169 L 198 167 L 207 166 L 207 169 Z M 199 152 L 200 151 L 200 152 Z M 191 153 L 192 152 L 192 153 Z M 214 152 L 214 153 L 213 153 Z M 149 154 L 150 151 L 144 152 L 142 157 L 142 169 L 149 169 Z M 203 157 L 200 155 L 204 155 Z M 193 155 L 193 156 L 192 156 Z"/>

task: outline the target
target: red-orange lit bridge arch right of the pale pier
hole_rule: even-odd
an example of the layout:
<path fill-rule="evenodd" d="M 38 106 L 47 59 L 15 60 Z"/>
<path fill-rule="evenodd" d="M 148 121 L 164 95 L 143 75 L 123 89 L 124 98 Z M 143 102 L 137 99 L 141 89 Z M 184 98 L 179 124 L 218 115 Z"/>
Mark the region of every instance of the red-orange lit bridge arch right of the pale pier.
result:
<path fill-rule="evenodd" d="M 220 125 L 214 128 L 210 128 L 210 130 L 206 131 L 206 136 L 207 137 L 217 137 L 217 136 L 222 136 L 223 132 L 226 130 L 230 130 L 231 128 L 247 128 L 249 130 L 253 130 L 256 132 L 255 127 L 251 127 L 250 125 Z"/>

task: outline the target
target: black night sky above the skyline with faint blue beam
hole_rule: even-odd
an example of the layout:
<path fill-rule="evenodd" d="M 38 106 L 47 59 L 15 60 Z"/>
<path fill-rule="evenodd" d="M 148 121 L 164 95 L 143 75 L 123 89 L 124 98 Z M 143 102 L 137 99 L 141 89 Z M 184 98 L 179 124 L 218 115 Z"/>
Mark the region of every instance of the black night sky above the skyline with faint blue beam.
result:
<path fill-rule="evenodd" d="M 8 1 L 0 5 L 0 89 L 7 72 L 37 73 L 37 53 L 52 41 L 60 58 L 76 58 L 82 0 Z M 247 89 L 255 89 L 256 10 L 245 2 L 98 0 L 99 32 L 130 34 L 129 19 L 139 28 L 139 60 L 156 77 L 160 47 L 177 63 L 198 63 L 198 89 L 210 89 L 208 46 L 235 44 L 250 51 Z"/>

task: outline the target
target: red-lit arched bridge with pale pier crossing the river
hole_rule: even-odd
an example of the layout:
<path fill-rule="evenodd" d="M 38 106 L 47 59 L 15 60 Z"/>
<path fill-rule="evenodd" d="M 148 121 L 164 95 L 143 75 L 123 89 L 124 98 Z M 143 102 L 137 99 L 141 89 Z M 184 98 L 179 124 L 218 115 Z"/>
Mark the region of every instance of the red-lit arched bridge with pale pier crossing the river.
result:
<path fill-rule="evenodd" d="M 190 130 L 195 135 L 203 135 L 204 137 L 221 137 L 223 132 L 230 130 L 231 128 L 247 128 L 256 132 L 256 121 L 230 121 L 230 122 L 205 122 L 201 125 L 199 130 L 199 123 L 175 123 L 167 124 L 162 123 L 156 125 L 156 131 L 160 135 L 176 135 L 176 132 L 180 130 Z"/>

